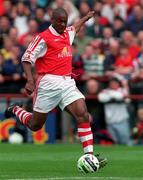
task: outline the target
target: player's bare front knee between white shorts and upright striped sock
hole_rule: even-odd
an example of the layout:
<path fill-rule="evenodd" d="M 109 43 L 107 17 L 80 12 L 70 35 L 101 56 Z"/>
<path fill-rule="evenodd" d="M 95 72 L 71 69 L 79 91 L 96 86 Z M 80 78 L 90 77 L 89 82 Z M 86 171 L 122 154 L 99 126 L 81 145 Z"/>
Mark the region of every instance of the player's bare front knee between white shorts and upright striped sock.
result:
<path fill-rule="evenodd" d="M 67 105 L 65 110 L 70 112 L 75 118 L 77 118 L 87 113 L 87 106 L 85 100 L 81 98 Z"/>

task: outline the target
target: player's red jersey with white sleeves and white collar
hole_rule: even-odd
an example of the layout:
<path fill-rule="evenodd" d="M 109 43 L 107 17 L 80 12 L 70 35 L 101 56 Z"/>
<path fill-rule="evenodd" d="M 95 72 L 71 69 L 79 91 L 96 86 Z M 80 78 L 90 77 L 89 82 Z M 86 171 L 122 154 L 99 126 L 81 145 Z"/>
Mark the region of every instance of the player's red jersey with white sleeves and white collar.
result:
<path fill-rule="evenodd" d="M 70 75 L 74 36 L 73 26 L 66 28 L 63 34 L 50 26 L 33 39 L 22 61 L 34 63 L 38 74 Z"/>

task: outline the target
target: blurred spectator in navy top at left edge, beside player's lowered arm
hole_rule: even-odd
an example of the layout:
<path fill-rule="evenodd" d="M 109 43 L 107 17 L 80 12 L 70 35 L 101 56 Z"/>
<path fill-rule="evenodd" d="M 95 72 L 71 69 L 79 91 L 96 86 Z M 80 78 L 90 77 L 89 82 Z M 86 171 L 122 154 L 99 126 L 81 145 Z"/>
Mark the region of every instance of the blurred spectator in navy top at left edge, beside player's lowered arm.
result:
<path fill-rule="evenodd" d="M 24 87 L 24 81 L 21 79 L 23 77 L 23 69 L 19 61 L 21 56 L 19 46 L 13 45 L 10 53 L 7 55 L 10 56 L 7 56 L 7 59 L 2 63 L 0 81 L 3 83 L 0 86 L 0 92 L 20 93 L 21 89 Z M 3 77 L 7 77 L 6 81 Z"/>

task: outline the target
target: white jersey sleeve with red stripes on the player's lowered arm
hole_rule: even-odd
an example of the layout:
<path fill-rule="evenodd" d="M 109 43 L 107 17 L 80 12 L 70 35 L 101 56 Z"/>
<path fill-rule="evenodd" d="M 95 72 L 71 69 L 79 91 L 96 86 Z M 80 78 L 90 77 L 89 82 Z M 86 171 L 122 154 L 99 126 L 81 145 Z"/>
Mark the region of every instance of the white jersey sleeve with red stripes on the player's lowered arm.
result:
<path fill-rule="evenodd" d="M 43 57 L 47 52 L 47 45 L 44 39 L 37 35 L 29 44 L 27 50 L 22 56 L 22 61 L 30 62 L 35 64 L 35 61 Z"/>

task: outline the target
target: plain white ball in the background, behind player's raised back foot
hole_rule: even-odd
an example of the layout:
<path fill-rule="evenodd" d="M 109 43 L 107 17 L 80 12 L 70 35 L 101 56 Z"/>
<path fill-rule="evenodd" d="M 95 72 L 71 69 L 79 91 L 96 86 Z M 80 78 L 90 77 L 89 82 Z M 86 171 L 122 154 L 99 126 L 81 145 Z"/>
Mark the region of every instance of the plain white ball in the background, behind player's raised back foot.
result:
<path fill-rule="evenodd" d="M 17 132 L 14 132 L 9 136 L 8 142 L 11 144 L 22 144 L 23 136 Z"/>

